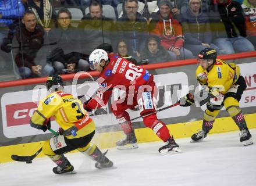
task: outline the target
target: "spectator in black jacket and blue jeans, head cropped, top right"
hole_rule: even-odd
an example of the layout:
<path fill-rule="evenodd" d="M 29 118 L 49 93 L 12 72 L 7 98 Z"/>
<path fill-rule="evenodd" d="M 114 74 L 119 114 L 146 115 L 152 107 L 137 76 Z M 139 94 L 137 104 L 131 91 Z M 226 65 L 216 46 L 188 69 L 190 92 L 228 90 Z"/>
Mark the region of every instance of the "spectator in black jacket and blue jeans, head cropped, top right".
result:
<path fill-rule="evenodd" d="M 236 1 L 218 0 L 218 33 L 214 44 L 222 54 L 254 51 L 254 46 L 246 38 L 246 24 L 241 5 Z"/>

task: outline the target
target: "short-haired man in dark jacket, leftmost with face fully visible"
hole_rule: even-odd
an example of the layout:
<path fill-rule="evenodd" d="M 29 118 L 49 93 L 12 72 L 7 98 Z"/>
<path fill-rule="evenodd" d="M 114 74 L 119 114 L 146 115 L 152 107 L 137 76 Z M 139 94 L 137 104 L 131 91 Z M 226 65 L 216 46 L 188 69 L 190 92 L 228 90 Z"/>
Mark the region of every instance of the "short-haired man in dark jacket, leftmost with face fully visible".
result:
<path fill-rule="evenodd" d="M 30 10 L 24 13 L 15 37 L 20 46 L 15 62 L 22 78 L 49 76 L 54 73 L 54 68 L 48 64 L 43 69 L 41 65 L 35 64 L 37 52 L 44 44 L 44 29 L 37 24 L 35 15 Z"/>

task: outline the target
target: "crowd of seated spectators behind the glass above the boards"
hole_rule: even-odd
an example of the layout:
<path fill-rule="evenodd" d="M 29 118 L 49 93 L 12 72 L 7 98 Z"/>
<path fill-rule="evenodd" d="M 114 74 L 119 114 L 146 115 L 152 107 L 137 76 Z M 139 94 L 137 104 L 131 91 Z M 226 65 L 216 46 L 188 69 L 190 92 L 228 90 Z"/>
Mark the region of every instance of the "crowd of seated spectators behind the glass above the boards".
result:
<path fill-rule="evenodd" d="M 195 58 L 205 47 L 254 51 L 255 10 L 255 0 L 2 0 L 0 67 L 20 78 L 88 71 L 102 43 L 136 65 Z"/>

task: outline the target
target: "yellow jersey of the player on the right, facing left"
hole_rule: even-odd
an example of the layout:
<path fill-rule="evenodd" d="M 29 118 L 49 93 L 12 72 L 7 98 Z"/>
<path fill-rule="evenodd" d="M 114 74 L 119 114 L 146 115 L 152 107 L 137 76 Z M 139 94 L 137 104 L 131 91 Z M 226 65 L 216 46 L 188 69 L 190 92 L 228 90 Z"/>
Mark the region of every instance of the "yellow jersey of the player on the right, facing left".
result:
<path fill-rule="evenodd" d="M 219 92 L 224 95 L 236 83 L 239 76 L 239 66 L 234 63 L 226 63 L 221 59 L 217 59 L 209 71 L 202 69 L 201 65 L 195 70 L 195 78 L 200 84 L 207 85 L 209 88 L 218 88 Z"/>

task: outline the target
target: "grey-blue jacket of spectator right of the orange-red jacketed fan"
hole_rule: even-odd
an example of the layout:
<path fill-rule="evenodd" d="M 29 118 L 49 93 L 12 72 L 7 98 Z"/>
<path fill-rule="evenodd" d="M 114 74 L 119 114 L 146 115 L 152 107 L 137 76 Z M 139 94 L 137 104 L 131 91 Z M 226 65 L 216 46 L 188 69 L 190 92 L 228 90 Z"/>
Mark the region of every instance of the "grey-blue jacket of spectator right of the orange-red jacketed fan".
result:
<path fill-rule="evenodd" d="M 187 44 L 201 45 L 212 42 L 211 26 L 207 14 L 195 15 L 190 9 L 183 13 L 183 32 Z"/>

